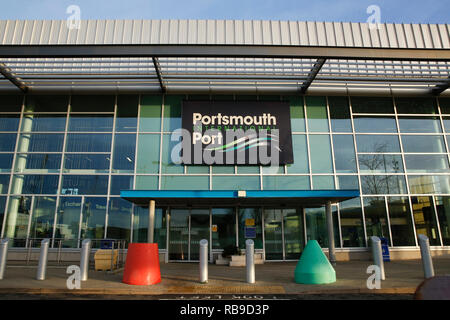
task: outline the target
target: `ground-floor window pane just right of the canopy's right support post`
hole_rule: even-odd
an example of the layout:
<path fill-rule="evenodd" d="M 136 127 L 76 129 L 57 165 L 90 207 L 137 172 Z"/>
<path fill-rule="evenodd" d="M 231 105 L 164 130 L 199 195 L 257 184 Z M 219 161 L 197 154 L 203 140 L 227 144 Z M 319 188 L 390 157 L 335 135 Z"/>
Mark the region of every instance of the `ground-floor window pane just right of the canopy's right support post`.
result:
<path fill-rule="evenodd" d="M 354 198 L 343 201 L 339 204 L 339 209 L 344 248 L 365 247 L 366 242 L 364 239 L 364 224 L 360 199 Z"/>

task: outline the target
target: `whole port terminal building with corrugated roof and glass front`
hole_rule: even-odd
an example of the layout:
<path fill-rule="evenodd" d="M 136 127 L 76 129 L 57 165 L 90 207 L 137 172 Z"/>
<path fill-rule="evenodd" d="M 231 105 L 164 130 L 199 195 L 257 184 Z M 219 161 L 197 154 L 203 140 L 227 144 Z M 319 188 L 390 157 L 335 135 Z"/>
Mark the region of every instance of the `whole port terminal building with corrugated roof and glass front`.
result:
<path fill-rule="evenodd" d="M 252 239 L 287 261 L 314 239 L 339 261 L 368 258 L 379 236 L 408 259 L 424 234 L 450 253 L 449 24 L 69 27 L 0 21 L 11 252 L 152 239 L 162 261 L 197 261 L 207 239 L 214 262 Z M 219 141 L 230 132 L 244 136 Z M 212 162 L 194 161 L 194 141 Z"/>

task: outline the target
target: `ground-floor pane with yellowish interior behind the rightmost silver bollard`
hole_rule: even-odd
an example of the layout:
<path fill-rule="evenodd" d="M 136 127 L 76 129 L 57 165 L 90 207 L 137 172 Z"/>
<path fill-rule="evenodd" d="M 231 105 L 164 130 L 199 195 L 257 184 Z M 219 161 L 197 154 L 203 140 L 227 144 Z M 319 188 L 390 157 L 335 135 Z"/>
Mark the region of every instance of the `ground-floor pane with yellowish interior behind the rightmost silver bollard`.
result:
<path fill-rule="evenodd" d="M 428 237 L 430 245 L 441 245 L 436 224 L 433 197 L 411 197 L 416 234 Z"/>

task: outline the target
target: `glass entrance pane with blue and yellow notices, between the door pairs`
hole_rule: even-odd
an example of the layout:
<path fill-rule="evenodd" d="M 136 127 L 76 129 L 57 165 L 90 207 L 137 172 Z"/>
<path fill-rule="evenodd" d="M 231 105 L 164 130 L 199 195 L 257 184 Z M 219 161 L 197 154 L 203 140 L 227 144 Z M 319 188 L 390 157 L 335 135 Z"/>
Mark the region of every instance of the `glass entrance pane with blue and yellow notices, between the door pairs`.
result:
<path fill-rule="evenodd" d="M 239 248 L 245 249 L 245 241 L 251 239 L 255 249 L 262 249 L 261 208 L 238 208 Z"/>

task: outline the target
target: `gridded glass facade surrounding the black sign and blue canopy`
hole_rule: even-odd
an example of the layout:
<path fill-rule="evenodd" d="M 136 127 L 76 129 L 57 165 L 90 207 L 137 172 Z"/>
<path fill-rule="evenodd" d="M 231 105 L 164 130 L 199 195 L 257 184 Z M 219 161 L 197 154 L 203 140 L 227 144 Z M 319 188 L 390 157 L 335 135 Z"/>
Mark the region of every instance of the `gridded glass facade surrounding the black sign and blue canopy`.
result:
<path fill-rule="evenodd" d="M 44 237 L 65 247 L 83 238 L 146 241 L 147 209 L 120 199 L 124 189 L 359 189 L 360 198 L 333 207 L 338 248 L 366 247 L 372 235 L 394 247 L 416 246 L 418 234 L 450 245 L 448 99 L 250 97 L 290 103 L 293 164 L 177 165 L 171 133 L 181 126 L 182 101 L 205 98 L 248 99 L 0 95 L 1 236 L 18 247 Z M 243 248 L 254 232 L 255 248 L 273 259 L 297 257 L 308 239 L 328 242 L 322 209 L 200 208 L 169 222 L 166 209 L 158 208 L 155 237 L 176 257 L 197 254 L 186 251 L 199 240 L 183 238 L 186 226 L 213 250 Z M 191 242 L 176 247 L 168 234 L 177 245 Z"/>

